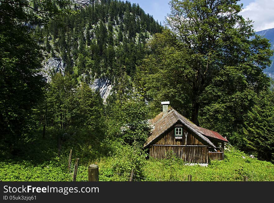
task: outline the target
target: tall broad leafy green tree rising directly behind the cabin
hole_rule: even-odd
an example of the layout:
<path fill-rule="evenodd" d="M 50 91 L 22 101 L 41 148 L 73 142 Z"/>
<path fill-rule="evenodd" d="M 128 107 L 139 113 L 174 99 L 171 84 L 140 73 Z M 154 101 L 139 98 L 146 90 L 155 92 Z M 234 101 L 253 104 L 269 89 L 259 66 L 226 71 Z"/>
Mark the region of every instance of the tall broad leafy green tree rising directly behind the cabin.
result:
<path fill-rule="evenodd" d="M 255 35 L 253 25 L 239 15 L 242 6 L 237 2 L 170 2 L 167 25 L 171 31 L 155 35 L 149 46 L 154 54 L 140 67 L 141 72 L 150 75 L 147 81 L 138 79 L 147 88 L 148 97 L 173 100 L 199 125 L 198 116 L 205 99 L 207 104 L 212 102 L 206 92 L 216 93 L 208 90 L 211 87 L 221 87 L 223 94 L 234 94 L 239 90 L 238 85 L 242 85 L 242 90 L 254 92 L 269 85 L 262 69 L 270 64 L 270 44 L 259 36 L 251 39 Z M 234 72 L 239 76 L 232 76 L 230 81 L 229 74 Z M 238 79 L 241 80 L 238 84 L 232 82 Z"/>

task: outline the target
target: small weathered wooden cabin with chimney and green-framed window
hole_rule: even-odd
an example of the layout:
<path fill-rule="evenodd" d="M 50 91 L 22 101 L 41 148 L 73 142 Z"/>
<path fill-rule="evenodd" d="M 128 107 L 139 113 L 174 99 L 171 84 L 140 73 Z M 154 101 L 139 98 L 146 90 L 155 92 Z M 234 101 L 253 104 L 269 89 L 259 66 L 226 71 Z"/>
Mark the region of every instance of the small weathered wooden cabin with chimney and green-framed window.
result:
<path fill-rule="evenodd" d="M 149 120 L 151 136 L 144 144 L 151 157 L 165 159 L 167 151 L 173 150 L 186 163 L 208 164 L 209 158 L 224 159 L 224 143 L 228 141 L 223 136 L 196 126 L 175 109 L 168 108 L 169 102 L 162 104 L 163 112 Z"/>

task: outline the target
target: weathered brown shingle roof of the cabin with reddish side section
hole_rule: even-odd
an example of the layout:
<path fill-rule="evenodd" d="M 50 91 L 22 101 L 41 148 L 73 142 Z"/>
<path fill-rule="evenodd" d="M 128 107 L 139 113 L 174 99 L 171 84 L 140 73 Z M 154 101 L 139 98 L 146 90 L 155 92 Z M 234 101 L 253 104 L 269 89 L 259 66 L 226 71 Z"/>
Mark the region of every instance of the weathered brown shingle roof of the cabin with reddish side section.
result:
<path fill-rule="evenodd" d="M 175 109 L 170 107 L 165 115 L 163 115 L 163 112 L 161 112 L 155 118 L 149 120 L 149 124 L 152 127 L 152 132 L 151 136 L 149 136 L 146 143 L 144 144 L 144 148 L 149 146 L 157 137 L 162 135 L 177 121 L 182 122 L 190 131 L 195 133 L 202 140 L 204 140 L 206 143 L 213 147 L 216 146 L 207 137 L 227 142 L 227 140 L 224 137 L 222 137 L 219 133 L 196 126 L 190 120 L 188 120 L 180 113 L 178 113 Z"/>

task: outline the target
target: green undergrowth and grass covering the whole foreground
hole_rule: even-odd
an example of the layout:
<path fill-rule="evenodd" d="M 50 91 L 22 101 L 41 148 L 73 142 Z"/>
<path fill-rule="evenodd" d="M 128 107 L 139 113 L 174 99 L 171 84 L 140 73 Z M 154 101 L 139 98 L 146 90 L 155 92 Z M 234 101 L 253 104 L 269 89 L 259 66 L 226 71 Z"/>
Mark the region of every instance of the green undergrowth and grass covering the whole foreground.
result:
<path fill-rule="evenodd" d="M 100 141 L 88 130 L 71 130 L 62 142 L 58 157 L 57 134 L 63 131 L 49 129 L 45 139 L 39 133 L 36 138 L 22 144 L 18 156 L 1 151 L 1 181 L 72 181 L 74 162 L 79 158 L 76 181 L 87 181 L 89 164 L 99 166 L 100 181 L 128 181 L 134 169 L 133 181 L 274 181 L 274 165 L 250 158 L 227 145 L 223 161 L 211 160 L 208 167 L 187 166 L 181 159 L 157 160 L 148 158 L 138 148 L 121 140 L 105 137 Z M 68 170 L 69 152 L 72 149 L 72 165 Z"/>

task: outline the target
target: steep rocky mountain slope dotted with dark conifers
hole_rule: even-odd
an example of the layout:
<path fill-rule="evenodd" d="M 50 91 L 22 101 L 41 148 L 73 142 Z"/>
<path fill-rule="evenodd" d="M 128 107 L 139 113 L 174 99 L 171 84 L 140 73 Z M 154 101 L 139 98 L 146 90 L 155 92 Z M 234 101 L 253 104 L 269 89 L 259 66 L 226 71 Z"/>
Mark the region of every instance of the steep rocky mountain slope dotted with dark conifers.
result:
<path fill-rule="evenodd" d="M 71 74 L 106 99 L 119 78 L 135 75 L 146 54 L 147 40 L 163 28 L 138 4 L 84 2 L 75 7 L 74 13 L 53 19 L 45 28 L 37 27 L 36 35 L 47 56 L 44 76 L 50 80 L 56 72 Z"/>

